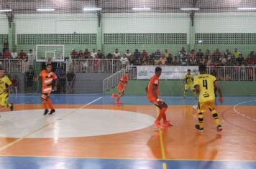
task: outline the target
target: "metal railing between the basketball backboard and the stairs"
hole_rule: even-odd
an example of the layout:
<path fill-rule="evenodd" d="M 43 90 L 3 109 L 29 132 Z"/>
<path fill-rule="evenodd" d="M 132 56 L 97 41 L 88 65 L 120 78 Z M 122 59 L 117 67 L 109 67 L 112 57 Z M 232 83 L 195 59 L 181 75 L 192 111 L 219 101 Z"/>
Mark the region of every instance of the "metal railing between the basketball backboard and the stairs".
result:
<path fill-rule="evenodd" d="M 68 59 L 66 68 L 75 73 L 115 73 L 125 67 L 127 64 L 122 64 L 120 59 Z"/>

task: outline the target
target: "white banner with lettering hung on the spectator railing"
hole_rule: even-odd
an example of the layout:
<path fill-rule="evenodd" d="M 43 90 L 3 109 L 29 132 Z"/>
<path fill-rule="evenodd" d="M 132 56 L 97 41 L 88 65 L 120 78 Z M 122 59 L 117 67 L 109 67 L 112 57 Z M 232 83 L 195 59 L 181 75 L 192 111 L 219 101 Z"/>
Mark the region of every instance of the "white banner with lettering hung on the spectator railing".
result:
<path fill-rule="evenodd" d="M 137 66 L 137 79 L 150 79 L 155 74 L 157 66 Z M 197 66 L 163 66 L 160 79 L 183 79 L 191 69 L 192 74 L 199 74 Z"/>

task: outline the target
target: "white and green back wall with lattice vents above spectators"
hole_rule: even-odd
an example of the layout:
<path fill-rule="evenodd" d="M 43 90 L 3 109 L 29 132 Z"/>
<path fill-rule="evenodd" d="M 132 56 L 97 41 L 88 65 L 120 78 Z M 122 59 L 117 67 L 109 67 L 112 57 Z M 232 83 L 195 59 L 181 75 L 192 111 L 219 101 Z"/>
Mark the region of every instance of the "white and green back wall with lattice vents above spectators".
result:
<path fill-rule="evenodd" d="M 17 14 L 14 16 L 14 22 L 17 50 L 35 49 L 35 39 L 42 39 L 42 36 L 47 37 L 52 34 L 62 36 L 66 55 L 72 48 L 91 50 L 97 47 L 94 41 L 79 40 L 81 39 L 79 36 L 83 34 L 97 34 L 96 14 Z M 149 53 L 155 52 L 156 49 L 161 51 L 170 49 L 173 54 L 178 54 L 181 47 L 189 49 L 190 24 L 188 13 L 103 14 L 101 33 L 104 54 L 114 52 L 115 48 L 119 48 L 121 53 L 126 49 L 133 52 L 137 48 L 140 51 L 147 49 Z M 196 13 L 195 49 L 203 49 L 203 51 L 210 49 L 213 52 L 218 47 L 221 52 L 227 48 L 233 52 L 237 47 L 247 55 L 251 50 L 256 49 L 255 27 L 254 12 Z M 74 32 L 76 34 L 73 34 Z M 8 34 L 5 14 L 0 15 L 1 34 Z M 31 42 L 29 38 L 27 41 L 22 41 L 29 34 L 35 35 L 34 39 L 31 39 Z M 198 43 L 198 40 L 203 40 L 203 43 Z M 54 42 L 58 42 L 57 37 L 51 41 Z"/>

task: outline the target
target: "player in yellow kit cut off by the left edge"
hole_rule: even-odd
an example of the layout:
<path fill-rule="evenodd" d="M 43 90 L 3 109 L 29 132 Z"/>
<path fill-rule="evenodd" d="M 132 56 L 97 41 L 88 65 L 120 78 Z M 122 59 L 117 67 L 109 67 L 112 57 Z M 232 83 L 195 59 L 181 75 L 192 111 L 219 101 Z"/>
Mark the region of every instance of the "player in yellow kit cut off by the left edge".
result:
<path fill-rule="evenodd" d="M 12 82 L 9 77 L 4 74 L 4 69 L 0 69 L 0 107 L 9 107 L 14 110 L 12 103 L 7 104 L 9 97 L 9 90 L 12 88 Z"/>

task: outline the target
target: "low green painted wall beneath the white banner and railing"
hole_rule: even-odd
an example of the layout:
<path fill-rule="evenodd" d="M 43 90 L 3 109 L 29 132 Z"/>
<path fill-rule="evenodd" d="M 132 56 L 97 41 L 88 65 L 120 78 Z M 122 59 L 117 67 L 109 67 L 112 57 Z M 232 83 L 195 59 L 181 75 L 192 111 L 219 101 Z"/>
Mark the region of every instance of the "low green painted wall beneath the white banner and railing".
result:
<path fill-rule="evenodd" d="M 145 95 L 145 87 L 148 80 L 129 80 L 126 95 Z M 256 96 L 256 81 L 220 81 L 221 90 L 224 96 Z M 112 89 L 106 94 L 117 92 Z M 161 80 L 160 95 L 183 96 L 182 81 Z M 188 95 L 193 95 L 189 92 Z"/>

